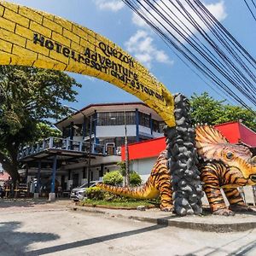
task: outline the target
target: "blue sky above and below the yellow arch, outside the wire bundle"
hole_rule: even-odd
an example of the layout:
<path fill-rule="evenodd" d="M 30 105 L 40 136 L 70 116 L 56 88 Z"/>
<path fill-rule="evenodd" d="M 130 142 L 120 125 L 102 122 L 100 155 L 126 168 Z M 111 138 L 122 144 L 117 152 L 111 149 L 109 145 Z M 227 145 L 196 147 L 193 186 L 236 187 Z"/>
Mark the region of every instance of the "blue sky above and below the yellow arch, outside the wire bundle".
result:
<path fill-rule="evenodd" d="M 129 54 L 148 67 L 172 94 L 181 92 L 190 97 L 207 91 L 210 96 L 223 100 L 218 88 L 212 90 L 155 34 L 150 27 L 119 0 L 15 0 L 9 1 L 46 11 L 74 21 L 102 34 L 119 44 Z M 204 0 L 213 15 L 232 33 L 247 51 L 256 57 L 256 22 L 242 0 Z M 78 102 L 67 103 L 73 108 L 84 108 L 91 103 L 139 102 L 124 90 L 99 79 L 69 73 L 82 88 Z"/>

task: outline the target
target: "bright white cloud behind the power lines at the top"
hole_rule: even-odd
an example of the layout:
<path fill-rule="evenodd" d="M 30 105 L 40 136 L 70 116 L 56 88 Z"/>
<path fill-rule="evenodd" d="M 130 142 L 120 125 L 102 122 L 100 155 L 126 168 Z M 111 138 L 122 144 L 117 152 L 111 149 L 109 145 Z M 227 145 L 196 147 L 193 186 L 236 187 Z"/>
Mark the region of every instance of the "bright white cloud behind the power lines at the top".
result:
<path fill-rule="evenodd" d="M 148 5 L 147 3 L 140 1 L 141 4 L 148 9 Z M 178 4 L 176 2 L 174 2 L 174 4 L 177 6 L 178 9 L 181 10 L 181 12 L 179 12 L 173 5 L 173 2 L 170 2 L 169 0 L 161 0 L 158 1 L 156 3 L 154 3 L 154 6 L 157 9 L 160 9 L 161 14 L 167 16 L 169 15 L 170 18 L 168 20 L 170 20 L 172 22 L 172 24 L 174 26 L 180 26 L 179 30 L 185 30 L 186 32 L 186 38 L 189 38 L 193 33 L 196 32 L 196 29 L 194 26 L 192 26 L 189 21 L 183 16 L 185 15 L 184 11 L 178 6 Z M 205 30 L 207 31 L 208 28 L 207 26 L 205 26 L 205 24 L 203 23 L 203 21 L 200 20 L 200 18 L 198 17 L 198 15 L 195 14 L 194 10 L 191 9 L 188 5 L 188 3 L 186 3 L 185 1 L 181 0 L 181 3 L 183 4 L 183 7 L 185 9 L 188 10 L 189 15 L 191 15 L 193 17 L 193 19 L 195 19 L 195 21 Z M 219 1 L 218 3 L 210 3 L 210 4 L 206 4 L 204 3 L 204 5 L 206 6 L 206 8 L 212 13 L 212 15 L 215 16 L 215 18 L 219 21 L 224 20 L 224 18 L 227 16 L 225 13 L 225 8 L 224 8 L 224 2 L 223 1 Z M 175 32 L 172 28 L 172 26 L 170 26 L 170 24 L 168 24 L 166 22 L 166 20 L 164 20 L 154 9 L 148 9 L 148 11 L 151 13 L 151 15 L 154 17 L 152 18 L 151 15 L 149 15 L 148 13 L 145 14 L 146 18 L 148 18 L 149 20 L 151 20 L 154 23 L 154 26 L 160 26 L 159 24 L 161 24 L 162 26 L 165 26 L 167 30 L 171 31 L 175 37 L 177 37 L 178 39 L 180 39 L 182 42 L 184 42 L 184 39 L 177 34 L 177 32 Z M 172 13 L 173 12 L 173 13 Z M 155 20 L 154 20 L 155 19 Z M 157 20 L 159 20 L 159 23 L 157 22 Z M 134 24 L 136 24 L 137 26 L 146 28 L 148 27 L 148 24 L 141 19 L 138 15 L 136 15 L 135 13 L 133 13 L 132 16 L 132 22 Z"/>

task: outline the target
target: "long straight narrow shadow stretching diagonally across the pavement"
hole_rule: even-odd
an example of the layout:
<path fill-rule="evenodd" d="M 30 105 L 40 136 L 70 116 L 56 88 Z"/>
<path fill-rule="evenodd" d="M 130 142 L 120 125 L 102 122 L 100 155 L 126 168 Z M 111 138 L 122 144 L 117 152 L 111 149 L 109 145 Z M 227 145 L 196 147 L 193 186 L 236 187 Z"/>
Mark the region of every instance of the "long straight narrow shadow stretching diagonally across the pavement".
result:
<path fill-rule="evenodd" d="M 70 243 L 65 243 L 65 244 L 61 244 L 58 246 L 54 246 L 54 247 L 47 247 L 47 248 L 43 248 L 43 249 L 39 249 L 39 250 L 35 250 L 32 252 L 26 253 L 26 255 L 31 256 L 31 255 L 44 255 L 47 253 L 56 253 L 56 252 L 61 252 L 64 250 L 72 249 L 75 247 L 84 247 L 84 246 L 96 244 L 96 243 L 99 243 L 102 241 L 109 241 L 109 240 L 113 240 L 113 239 L 123 238 L 125 236 L 133 236 L 133 235 L 137 235 L 137 234 L 141 234 L 141 233 L 145 233 L 145 232 L 150 232 L 153 230 L 160 230 L 163 228 L 166 228 L 166 226 L 156 224 L 154 226 L 150 226 L 150 227 L 139 229 L 139 230 L 125 231 L 125 232 L 120 232 L 120 233 L 106 235 L 106 236 L 97 236 L 97 237 L 93 237 L 90 239 L 73 241 Z"/>

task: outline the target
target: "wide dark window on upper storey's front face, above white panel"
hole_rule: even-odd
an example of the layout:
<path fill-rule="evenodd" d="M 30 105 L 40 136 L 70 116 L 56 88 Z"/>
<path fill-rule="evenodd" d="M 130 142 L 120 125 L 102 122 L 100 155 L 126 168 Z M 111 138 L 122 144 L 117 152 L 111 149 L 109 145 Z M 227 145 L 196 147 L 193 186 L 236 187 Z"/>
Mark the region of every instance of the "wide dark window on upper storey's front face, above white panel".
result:
<path fill-rule="evenodd" d="M 136 118 L 135 112 L 102 112 L 98 113 L 98 123 L 99 126 L 107 125 L 135 125 Z"/>

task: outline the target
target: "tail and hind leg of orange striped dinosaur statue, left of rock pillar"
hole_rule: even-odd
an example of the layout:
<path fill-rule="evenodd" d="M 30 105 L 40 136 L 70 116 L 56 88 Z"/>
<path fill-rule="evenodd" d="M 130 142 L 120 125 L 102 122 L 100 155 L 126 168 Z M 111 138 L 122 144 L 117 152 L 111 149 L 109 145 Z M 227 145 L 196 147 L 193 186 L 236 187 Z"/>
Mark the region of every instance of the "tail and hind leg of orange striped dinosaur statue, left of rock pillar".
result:
<path fill-rule="evenodd" d="M 172 211 L 171 174 L 166 163 L 166 150 L 164 150 L 156 160 L 147 182 L 136 188 L 114 187 L 102 183 L 98 183 L 96 186 L 116 195 L 138 199 L 153 199 L 160 195 L 160 209 Z"/>

